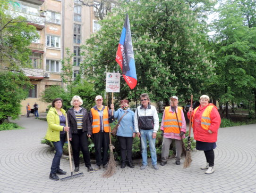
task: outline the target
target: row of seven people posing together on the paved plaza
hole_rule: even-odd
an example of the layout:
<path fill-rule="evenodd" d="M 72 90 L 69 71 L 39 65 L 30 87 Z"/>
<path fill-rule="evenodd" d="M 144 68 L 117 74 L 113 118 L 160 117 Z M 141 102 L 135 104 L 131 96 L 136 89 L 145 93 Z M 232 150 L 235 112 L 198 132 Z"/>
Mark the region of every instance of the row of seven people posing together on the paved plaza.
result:
<path fill-rule="evenodd" d="M 180 164 L 182 153 L 182 139 L 185 138 L 186 121 L 181 107 L 178 106 L 177 96 L 170 98 L 170 106 L 165 107 L 162 116 L 162 161 L 161 165 L 167 163 L 170 145 L 175 141 L 176 156 L 175 163 Z M 108 149 L 110 144 L 109 132 L 110 123 L 114 119 L 118 120 L 117 137 L 120 145 L 121 168 L 126 165 L 134 168 L 132 163 L 132 143 L 133 138 L 139 137 L 141 141 L 142 165 L 140 169 L 146 169 L 147 163 L 147 141 L 150 148 L 152 168 L 159 169 L 155 148 L 156 133 L 159 129 L 159 118 L 156 108 L 150 104 L 148 94 L 140 96 L 141 105 L 137 107 L 135 113 L 129 108 L 129 101 L 120 101 L 120 108 L 115 111 L 114 105 L 111 109 L 102 105 L 102 96 L 95 97 L 96 105 L 91 108 L 90 113 L 81 105 L 83 100 L 79 96 L 74 96 L 70 102 L 72 107 L 67 114 L 62 109 L 63 101 L 56 98 L 52 101 L 52 107 L 47 114 L 48 129 L 46 139 L 52 141 L 56 153 L 51 164 L 50 179 L 59 180 L 57 176 L 65 175 L 67 172 L 60 169 L 60 158 L 62 148 L 66 140 L 66 132 L 69 134 L 69 141 L 72 146 L 74 159 L 74 173 L 79 172 L 79 152 L 83 153 L 85 167 L 89 172 L 107 167 Z M 188 118 L 192 119 L 196 149 L 205 153 L 206 164 L 201 169 L 207 169 L 206 174 L 214 172 L 214 151 L 217 141 L 217 133 L 220 127 L 221 118 L 217 107 L 209 103 L 209 96 L 200 97 L 200 105 L 193 110 L 189 108 Z M 67 120 L 66 120 L 67 119 Z M 94 142 L 96 166 L 92 168 L 90 153 L 88 148 L 88 138 Z"/>

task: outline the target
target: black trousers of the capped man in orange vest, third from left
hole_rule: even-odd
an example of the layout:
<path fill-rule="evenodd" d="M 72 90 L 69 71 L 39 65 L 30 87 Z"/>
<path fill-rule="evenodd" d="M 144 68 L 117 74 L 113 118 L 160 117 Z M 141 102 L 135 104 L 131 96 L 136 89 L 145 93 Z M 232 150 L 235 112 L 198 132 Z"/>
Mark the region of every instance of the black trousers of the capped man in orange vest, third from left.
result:
<path fill-rule="evenodd" d="M 94 133 L 94 148 L 96 156 L 96 164 L 106 165 L 108 163 L 108 149 L 109 149 L 109 133 L 100 131 Z"/>

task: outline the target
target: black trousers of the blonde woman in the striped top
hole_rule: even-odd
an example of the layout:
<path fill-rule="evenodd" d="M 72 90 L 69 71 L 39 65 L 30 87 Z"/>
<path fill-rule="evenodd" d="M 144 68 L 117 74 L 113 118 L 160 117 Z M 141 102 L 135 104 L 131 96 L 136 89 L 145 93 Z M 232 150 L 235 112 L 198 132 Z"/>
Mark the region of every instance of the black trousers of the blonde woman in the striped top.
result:
<path fill-rule="evenodd" d="M 72 145 L 73 158 L 75 167 L 79 167 L 79 154 L 80 150 L 83 153 L 83 158 L 85 161 L 85 166 L 91 166 L 91 158 L 88 147 L 88 137 L 87 132 L 83 132 L 82 129 L 77 129 L 77 134 L 72 134 L 72 141 L 70 141 Z"/>

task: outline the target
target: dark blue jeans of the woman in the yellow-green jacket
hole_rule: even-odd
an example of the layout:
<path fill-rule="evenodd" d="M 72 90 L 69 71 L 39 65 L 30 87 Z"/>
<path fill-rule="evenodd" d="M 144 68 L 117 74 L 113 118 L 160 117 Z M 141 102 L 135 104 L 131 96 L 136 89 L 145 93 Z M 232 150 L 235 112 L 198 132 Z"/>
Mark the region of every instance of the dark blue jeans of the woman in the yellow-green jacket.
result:
<path fill-rule="evenodd" d="M 60 141 L 52 142 L 55 148 L 55 154 L 51 164 L 51 174 L 56 174 L 57 171 L 60 169 L 60 158 L 62 155 L 62 149 L 65 141 L 66 141 L 66 134 L 61 134 Z"/>

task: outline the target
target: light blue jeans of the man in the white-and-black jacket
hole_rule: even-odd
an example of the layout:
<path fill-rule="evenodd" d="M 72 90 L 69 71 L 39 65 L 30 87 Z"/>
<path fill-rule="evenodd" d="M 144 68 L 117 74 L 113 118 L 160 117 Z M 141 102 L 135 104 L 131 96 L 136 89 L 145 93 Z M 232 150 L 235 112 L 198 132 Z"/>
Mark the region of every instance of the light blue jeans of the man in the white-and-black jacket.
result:
<path fill-rule="evenodd" d="M 152 165 L 156 165 L 156 150 L 155 150 L 155 138 L 153 139 L 153 129 L 144 130 L 140 129 L 141 134 L 141 154 L 142 164 L 147 165 L 147 139 L 149 143 Z"/>

